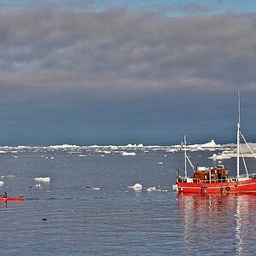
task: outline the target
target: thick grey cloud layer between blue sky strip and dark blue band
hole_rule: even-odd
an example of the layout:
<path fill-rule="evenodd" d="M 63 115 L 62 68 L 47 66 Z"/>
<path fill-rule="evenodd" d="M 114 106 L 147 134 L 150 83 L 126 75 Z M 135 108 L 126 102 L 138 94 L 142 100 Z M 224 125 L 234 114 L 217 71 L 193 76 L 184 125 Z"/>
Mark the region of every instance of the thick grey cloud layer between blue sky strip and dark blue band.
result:
<path fill-rule="evenodd" d="M 110 95 L 255 90 L 255 45 L 254 14 L 6 11 L 0 13 L 0 86 Z"/>

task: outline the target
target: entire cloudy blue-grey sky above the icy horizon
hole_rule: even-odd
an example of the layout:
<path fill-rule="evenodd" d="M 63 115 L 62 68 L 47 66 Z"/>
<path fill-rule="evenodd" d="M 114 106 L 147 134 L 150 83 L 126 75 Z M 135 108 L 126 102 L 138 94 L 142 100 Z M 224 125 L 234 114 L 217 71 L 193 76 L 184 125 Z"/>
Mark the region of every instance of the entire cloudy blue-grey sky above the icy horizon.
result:
<path fill-rule="evenodd" d="M 0 145 L 256 143 L 256 1 L 0 1 Z"/>

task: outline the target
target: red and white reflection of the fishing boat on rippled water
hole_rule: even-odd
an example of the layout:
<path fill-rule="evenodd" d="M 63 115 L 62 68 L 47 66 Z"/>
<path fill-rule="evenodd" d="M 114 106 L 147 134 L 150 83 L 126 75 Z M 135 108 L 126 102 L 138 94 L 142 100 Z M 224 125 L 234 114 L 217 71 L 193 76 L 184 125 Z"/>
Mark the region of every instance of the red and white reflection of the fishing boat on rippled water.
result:
<path fill-rule="evenodd" d="M 255 194 L 178 194 L 177 213 L 186 254 L 253 255 Z"/>

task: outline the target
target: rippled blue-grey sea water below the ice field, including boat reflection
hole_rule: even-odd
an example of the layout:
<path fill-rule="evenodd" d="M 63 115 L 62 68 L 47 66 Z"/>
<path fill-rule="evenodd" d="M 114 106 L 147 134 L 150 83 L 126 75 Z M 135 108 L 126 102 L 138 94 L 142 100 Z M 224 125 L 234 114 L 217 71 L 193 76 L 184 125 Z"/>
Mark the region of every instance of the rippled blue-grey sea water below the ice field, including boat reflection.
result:
<path fill-rule="evenodd" d="M 178 196 L 172 184 L 176 169 L 183 168 L 180 152 L 141 148 L 133 149 L 135 156 L 122 156 L 98 148 L 6 151 L 0 154 L 0 174 L 15 177 L 2 178 L 1 193 L 25 200 L 0 204 L 1 255 L 255 251 L 256 195 Z M 194 152 L 191 160 L 214 166 L 208 160 L 212 154 Z M 236 159 L 224 164 L 235 170 Z M 253 160 L 248 166 L 256 167 Z M 38 187 L 35 177 L 50 177 L 50 182 Z M 127 189 L 135 183 L 143 190 Z M 149 187 L 158 191 L 147 192 Z"/>

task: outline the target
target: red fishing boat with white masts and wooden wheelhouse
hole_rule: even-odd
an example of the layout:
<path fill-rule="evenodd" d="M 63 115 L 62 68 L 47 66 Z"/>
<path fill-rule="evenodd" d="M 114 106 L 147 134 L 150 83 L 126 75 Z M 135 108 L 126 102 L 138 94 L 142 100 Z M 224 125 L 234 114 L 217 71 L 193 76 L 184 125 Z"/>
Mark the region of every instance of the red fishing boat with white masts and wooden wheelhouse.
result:
<path fill-rule="evenodd" d="M 186 150 L 186 137 L 183 142 L 185 172 L 184 177 L 177 174 L 176 184 L 173 189 L 178 193 L 254 193 L 256 192 L 256 173 L 249 174 L 244 155 L 241 150 L 241 138 L 256 158 L 253 150 L 249 147 L 245 137 L 241 134 L 240 126 L 240 93 L 238 91 L 238 124 L 236 143 L 236 176 L 229 176 L 228 169 L 221 163 L 215 167 L 196 166 L 189 160 Z M 240 173 L 240 159 L 244 164 L 245 172 Z M 193 176 L 187 175 L 187 162 L 193 169 Z"/>

